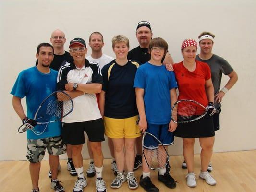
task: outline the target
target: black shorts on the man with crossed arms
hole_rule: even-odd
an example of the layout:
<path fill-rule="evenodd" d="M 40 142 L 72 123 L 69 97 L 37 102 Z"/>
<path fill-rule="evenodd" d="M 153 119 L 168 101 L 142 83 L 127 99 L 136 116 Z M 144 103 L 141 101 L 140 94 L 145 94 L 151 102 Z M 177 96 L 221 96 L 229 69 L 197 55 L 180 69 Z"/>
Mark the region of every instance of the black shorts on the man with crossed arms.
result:
<path fill-rule="evenodd" d="M 62 139 L 64 144 L 84 144 L 85 133 L 91 142 L 102 142 L 104 139 L 104 123 L 102 118 L 76 123 L 63 123 Z"/>

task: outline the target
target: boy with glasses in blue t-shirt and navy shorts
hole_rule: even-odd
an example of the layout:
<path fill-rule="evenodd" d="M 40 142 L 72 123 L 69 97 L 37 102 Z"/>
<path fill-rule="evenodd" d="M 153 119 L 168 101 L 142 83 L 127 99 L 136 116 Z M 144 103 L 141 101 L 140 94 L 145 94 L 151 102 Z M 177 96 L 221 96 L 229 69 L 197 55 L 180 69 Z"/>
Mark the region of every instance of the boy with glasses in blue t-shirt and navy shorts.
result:
<path fill-rule="evenodd" d="M 168 44 L 162 38 L 151 40 L 148 48 L 151 59 L 141 65 L 135 75 L 136 102 L 139 111 L 139 127 L 155 135 L 164 145 L 173 144 L 177 124 L 171 120 L 171 106 L 177 101 L 177 83 L 173 72 L 162 65 L 162 57 L 168 50 Z M 142 161 L 143 174 L 140 185 L 146 191 L 158 192 L 159 189 L 150 180 L 150 169 L 145 159 Z M 169 188 L 176 183 L 166 168 L 158 172 L 158 180 Z"/>

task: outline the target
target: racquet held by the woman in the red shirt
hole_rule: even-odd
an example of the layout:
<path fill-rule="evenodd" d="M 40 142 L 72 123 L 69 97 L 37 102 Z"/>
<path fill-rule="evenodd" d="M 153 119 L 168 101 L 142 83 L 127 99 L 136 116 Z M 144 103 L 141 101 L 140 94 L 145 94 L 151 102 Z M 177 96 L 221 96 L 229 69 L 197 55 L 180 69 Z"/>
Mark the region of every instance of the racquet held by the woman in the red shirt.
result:
<path fill-rule="evenodd" d="M 207 114 L 207 109 L 193 100 L 178 100 L 171 108 L 171 120 L 175 123 L 188 123 L 199 120 Z"/>

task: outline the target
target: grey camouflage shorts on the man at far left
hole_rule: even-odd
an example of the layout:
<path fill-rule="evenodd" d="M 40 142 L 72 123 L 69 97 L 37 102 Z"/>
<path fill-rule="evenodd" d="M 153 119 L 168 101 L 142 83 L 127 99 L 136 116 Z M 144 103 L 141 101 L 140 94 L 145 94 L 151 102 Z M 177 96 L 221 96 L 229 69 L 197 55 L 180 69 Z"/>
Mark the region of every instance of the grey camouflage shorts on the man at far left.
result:
<path fill-rule="evenodd" d="M 61 136 L 44 139 L 28 139 L 27 160 L 32 163 L 38 163 L 44 158 L 46 148 L 50 155 L 66 153 L 66 145 L 63 143 Z"/>

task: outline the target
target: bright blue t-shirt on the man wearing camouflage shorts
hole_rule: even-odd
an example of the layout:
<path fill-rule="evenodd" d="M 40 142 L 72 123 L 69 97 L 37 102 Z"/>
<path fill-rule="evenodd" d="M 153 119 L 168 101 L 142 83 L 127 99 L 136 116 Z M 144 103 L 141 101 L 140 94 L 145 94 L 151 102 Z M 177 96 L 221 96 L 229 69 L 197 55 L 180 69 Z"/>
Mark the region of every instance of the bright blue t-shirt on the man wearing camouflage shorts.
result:
<path fill-rule="evenodd" d="M 38 71 L 37 67 L 28 68 L 20 72 L 11 94 L 20 98 L 26 97 L 27 117 L 34 119 L 37 108 L 41 102 L 56 91 L 58 72 L 50 70 L 50 73 L 44 74 Z M 34 127 L 36 132 L 42 132 L 45 125 L 37 125 Z M 42 139 L 47 137 L 55 137 L 61 135 L 61 122 L 49 123 L 46 130 L 41 135 L 36 135 L 31 130 L 27 130 L 28 139 Z"/>

